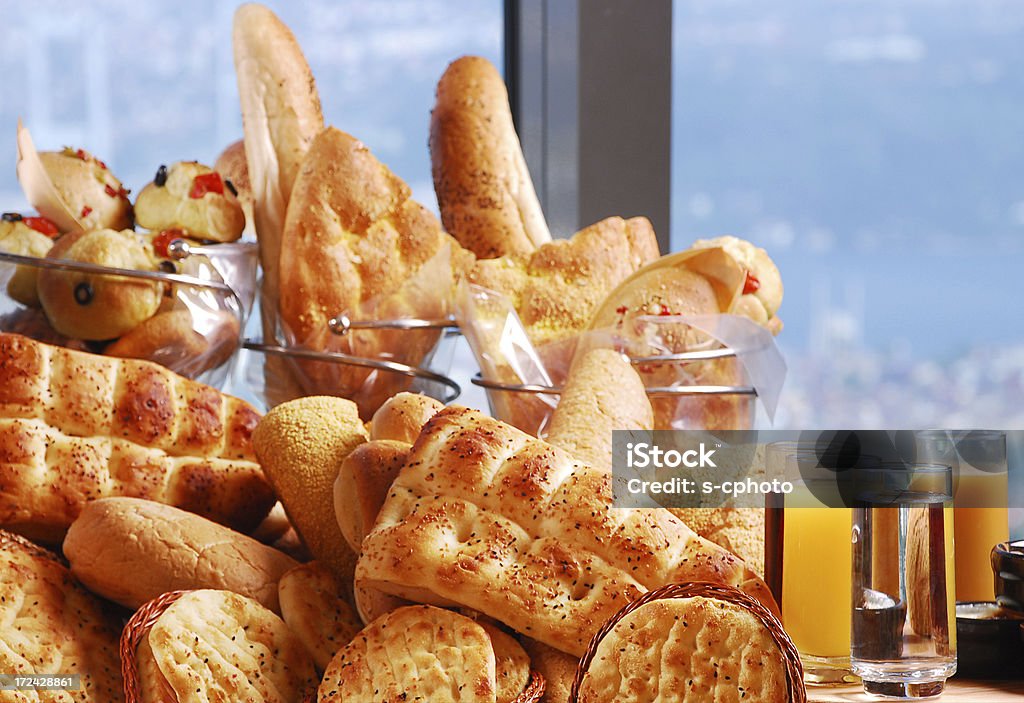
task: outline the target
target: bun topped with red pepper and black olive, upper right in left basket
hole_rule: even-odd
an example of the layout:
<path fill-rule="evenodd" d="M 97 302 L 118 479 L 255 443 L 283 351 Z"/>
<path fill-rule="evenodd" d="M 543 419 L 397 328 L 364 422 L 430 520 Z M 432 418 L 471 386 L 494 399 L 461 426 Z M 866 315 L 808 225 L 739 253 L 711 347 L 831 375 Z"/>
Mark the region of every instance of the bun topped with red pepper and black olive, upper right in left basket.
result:
<path fill-rule="evenodd" d="M 180 230 L 212 241 L 234 241 L 246 226 L 234 185 L 194 161 L 161 166 L 138 194 L 135 217 L 153 231 Z"/>

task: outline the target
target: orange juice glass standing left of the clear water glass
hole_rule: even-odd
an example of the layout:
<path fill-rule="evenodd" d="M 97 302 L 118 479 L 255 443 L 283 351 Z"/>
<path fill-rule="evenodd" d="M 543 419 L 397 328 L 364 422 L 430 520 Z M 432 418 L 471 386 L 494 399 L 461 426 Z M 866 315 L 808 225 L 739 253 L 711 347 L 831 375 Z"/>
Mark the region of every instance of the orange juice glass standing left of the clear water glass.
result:
<path fill-rule="evenodd" d="M 782 611 L 782 624 L 800 652 L 804 682 L 857 682 L 850 667 L 852 512 L 835 478 L 815 481 L 813 446 L 775 442 L 766 448 L 770 476 L 792 479 L 766 519 L 765 577 Z M 811 467 L 813 469 L 813 467 Z"/>

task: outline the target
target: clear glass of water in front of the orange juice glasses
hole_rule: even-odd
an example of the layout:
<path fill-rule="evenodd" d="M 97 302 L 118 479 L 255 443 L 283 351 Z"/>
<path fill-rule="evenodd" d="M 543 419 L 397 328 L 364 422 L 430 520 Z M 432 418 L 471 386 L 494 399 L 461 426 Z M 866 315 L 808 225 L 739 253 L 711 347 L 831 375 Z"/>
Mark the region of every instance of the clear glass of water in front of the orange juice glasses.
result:
<path fill-rule="evenodd" d="M 956 671 L 952 470 L 884 465 L 845 478 L 853 507 L 851 667 L 869 694 L 937 696 Z"/>

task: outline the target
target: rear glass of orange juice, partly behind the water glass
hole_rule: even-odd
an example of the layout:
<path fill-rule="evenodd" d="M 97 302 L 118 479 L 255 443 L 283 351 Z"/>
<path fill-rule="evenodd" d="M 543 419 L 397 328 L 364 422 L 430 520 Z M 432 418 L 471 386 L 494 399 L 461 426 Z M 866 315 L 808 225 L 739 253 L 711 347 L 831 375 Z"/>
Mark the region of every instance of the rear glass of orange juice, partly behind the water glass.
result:
<path fill-rule="evenodd" d="M 989 430 L 914 433 L 916 459 L 953 468 L 956 600 L 995 599 L 989 554 L 1010 538 L 1007 435 Z"/>

